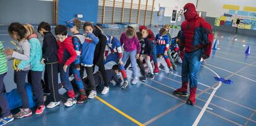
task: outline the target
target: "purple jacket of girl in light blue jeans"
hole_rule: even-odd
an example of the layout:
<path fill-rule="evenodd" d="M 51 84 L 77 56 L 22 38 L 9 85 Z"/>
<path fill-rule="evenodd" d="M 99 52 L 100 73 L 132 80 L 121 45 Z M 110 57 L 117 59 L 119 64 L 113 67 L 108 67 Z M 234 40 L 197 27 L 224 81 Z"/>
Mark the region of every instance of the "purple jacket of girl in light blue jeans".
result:
<path fill-rule="evenodd" d="M 121 45 L 124 44 L 124 51 L 134 51 L 137 49 L 137 54 L 140 53 L 140 43 L 137 37 L 127 38 L 126 33 L 122 33 L 120 37 Z"/>

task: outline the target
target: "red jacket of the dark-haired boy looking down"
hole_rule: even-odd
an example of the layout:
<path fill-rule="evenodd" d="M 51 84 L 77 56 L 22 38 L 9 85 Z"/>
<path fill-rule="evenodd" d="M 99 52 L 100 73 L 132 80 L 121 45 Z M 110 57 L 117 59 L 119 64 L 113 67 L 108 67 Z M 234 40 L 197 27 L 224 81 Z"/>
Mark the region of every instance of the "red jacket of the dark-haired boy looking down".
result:
<path fill-rule="evenodd" d="M 69 36 L 63 42 L 57 41 L 59 64 L 70 65 L 77 58 L 74 45 L 72 44 L 72 36 Z M 66 62 L 65 62 L 66 61 Z"/>

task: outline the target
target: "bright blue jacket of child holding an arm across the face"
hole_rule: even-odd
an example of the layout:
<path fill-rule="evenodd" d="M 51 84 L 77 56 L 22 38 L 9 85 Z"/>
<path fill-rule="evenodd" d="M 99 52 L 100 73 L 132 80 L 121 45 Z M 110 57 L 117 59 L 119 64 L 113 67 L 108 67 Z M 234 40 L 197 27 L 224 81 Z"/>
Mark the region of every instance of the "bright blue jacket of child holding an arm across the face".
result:
<path fill-rule="evenodd" d="M 96 37 L 93 33 L 88 33 L 85 37 L 85 40 L 81 42 L 81 65 L 83 66 L 92 66 L 93 57 L 96 44 L 99 42 L 99 38 Z"/>

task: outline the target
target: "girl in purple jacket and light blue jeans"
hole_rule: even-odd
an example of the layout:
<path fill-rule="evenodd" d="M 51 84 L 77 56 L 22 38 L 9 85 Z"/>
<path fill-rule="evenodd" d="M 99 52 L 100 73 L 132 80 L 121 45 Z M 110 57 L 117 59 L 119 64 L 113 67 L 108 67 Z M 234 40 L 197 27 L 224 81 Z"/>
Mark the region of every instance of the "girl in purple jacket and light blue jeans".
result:
<path fill-rule="evenodd" d="M 134 77 L 134 79 L 132 80 L 132 84 L 135 85 L 138 83 L 136 59 L 139 59 L 140 56 L 140 43 L 135 34 L 135 30 L 133 28 L 128 28 L 126 32 L 122 33 L 120 41 L 121 45 L 124 44 L 124 56 L 122 62 L 126 62 L 127 59 L 130 57 Z M 122 85 L 122 88 L 125 89 L 127 86 L 128 84 Z"/>

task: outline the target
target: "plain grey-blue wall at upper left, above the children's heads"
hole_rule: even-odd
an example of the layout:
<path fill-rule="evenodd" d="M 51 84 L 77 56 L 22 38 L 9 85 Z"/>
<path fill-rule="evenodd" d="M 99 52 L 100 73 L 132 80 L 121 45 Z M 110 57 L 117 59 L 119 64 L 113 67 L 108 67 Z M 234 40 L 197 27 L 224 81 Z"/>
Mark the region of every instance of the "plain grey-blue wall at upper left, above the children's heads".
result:
<path fill-rule="evenodd" d="M 53 1 L 1 0 L 0 25 L 12 22 L 38 24 L 53 23 Z"/>

